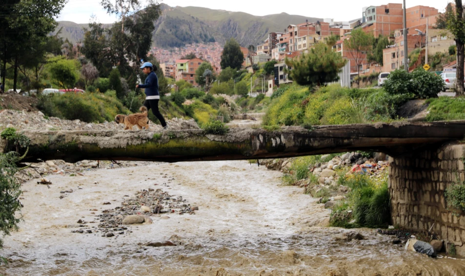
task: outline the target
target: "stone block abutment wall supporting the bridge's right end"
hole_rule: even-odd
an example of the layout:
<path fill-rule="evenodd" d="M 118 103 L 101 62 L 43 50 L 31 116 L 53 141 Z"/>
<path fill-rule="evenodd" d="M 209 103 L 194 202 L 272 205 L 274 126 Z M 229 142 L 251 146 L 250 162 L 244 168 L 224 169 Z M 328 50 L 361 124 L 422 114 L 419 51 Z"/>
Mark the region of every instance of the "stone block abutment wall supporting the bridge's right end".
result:
<path fill-rule="evenodd" d="M 389 193 L 394 225 L 429 230 L 465 256 L 465 213 L 447 208 L 445 188 L 465 181 L 465 145 L 446 145 L 389 158 Z"/>

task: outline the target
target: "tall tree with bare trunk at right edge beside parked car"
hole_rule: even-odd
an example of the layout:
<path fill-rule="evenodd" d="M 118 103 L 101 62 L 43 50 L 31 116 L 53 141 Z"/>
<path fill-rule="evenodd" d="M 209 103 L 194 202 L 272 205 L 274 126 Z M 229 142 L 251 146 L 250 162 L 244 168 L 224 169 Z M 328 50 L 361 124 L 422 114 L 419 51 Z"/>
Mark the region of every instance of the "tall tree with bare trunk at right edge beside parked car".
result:
<path fill-rule="evenodd" d="M 464 96 L 464 45 L 465 45 L 465 20 L 462 0 L 455 0 L 455 9 L 447 15 L 447 29 L 452 33 L 457 46 L 457 81 L 455 82 L 456 96 Z"/>

